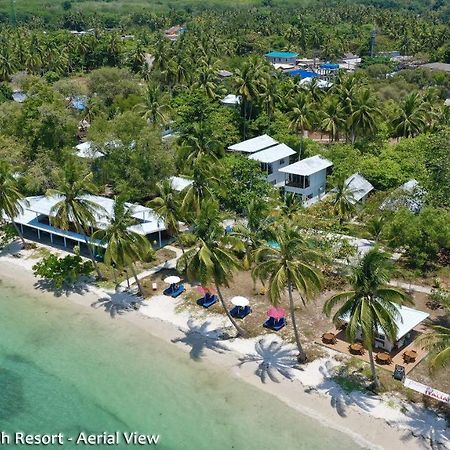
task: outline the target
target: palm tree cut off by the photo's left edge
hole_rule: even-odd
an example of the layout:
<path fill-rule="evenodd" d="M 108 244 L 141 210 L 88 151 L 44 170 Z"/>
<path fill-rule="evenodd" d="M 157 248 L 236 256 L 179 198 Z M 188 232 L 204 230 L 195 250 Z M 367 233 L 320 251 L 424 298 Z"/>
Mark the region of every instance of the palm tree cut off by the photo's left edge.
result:
<path fill-rule="evenodd" d="M 24 197 L 19 191 L 12 167 L 6 161 L 0 161 L 0 220 L 4 216 L 8 217 L 25 247 L 25 239 L 14 220 L 23 213 L 20 203 L 23 200 Z"/>

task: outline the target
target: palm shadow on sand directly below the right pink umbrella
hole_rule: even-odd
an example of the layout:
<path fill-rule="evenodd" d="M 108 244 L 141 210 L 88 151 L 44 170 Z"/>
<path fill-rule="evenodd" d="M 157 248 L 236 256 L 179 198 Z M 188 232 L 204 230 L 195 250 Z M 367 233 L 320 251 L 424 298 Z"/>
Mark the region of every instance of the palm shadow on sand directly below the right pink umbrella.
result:
<path fill-rule="evenodd" d="M 295 376 L 294 369 L 300 369 L 297 363 L 297 352 L 282 342 L 268 342 L 260 339 L 255 344 L 255 352 L 239 358 L 239 367 L 246 363 L 257 363 L 255 374 L 265 383 L 268 379 L 279 383 L 277 375 L 282 375 L 288 380 Z"/>

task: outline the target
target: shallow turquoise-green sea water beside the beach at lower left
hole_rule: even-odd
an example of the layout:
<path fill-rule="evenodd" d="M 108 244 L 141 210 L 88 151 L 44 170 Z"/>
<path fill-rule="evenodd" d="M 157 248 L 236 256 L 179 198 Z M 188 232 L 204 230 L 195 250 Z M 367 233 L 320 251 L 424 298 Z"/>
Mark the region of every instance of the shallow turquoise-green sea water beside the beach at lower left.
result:
<path fill-rule="evenodd" d="M 99 320 L 7 282 L 0 284 L 1 431 L 137 431 L 159 434 L 156 448 L 177 450 L 359 448 L 124 320 Z"/>

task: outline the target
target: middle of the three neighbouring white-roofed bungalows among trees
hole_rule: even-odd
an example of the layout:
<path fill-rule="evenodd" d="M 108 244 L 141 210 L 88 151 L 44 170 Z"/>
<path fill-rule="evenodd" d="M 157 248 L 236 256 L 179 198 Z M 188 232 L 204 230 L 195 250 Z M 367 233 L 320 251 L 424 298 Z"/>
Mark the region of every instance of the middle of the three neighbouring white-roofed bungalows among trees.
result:
<path fill-rule="evenodd" d="M 290 158 L 296 154 L 297 152 L 286 144 L 278 144 L 252 153 L 249 159 L 258 161 L 261 164 L 261 170 L 267 175 L 267 181 L 277 185 L 284 184 L 284 174 L 280 172 L 280 169 L 288 166 Z"/>

